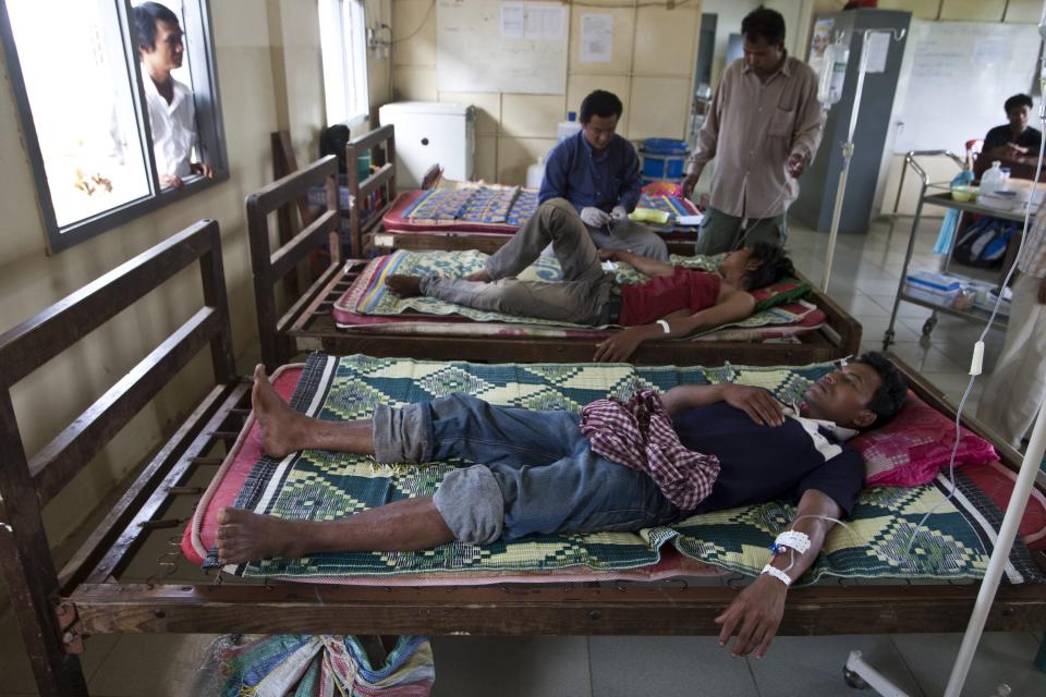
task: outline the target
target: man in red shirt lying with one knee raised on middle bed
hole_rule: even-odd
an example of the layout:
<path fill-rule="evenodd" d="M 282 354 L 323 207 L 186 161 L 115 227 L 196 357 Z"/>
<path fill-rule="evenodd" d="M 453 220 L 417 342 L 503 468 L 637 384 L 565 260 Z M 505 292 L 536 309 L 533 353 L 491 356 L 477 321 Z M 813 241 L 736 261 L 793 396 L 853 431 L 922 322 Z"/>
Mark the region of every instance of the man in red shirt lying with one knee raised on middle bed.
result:
<path fill-rule="evenodd" d="M 563 280 L 520 281 L 515 276 L 537 259 L 548 243 Z M 618 259 L 654 277 L 621 286 L 601 260 Z M 483 310 L 539 317 L 577 325 L 622 325 L 623 331 L 596 347 L 595 360 L 625 360 L 647 339 L 685 337 L 744 319 L 755 308 L 749 291 L 794 274 L 780 247 L 768 243 L 732 252 L 717 273 L 673 267 L 619 249 L 597 250 L 569 201 L 542 204 L 523 228 L 487 259 L 483 271 L 464 279 L 399 276 L 386 279 L 403 297 L 427 295 Z"/>

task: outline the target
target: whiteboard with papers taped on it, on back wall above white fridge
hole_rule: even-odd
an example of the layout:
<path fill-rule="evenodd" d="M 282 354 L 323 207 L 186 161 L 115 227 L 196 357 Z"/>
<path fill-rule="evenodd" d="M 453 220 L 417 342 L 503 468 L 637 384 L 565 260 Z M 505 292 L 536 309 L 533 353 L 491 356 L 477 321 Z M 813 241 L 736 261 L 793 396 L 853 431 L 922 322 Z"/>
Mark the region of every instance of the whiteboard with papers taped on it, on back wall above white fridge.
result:
<path fill-rule="evenodd" d="M 567 91 L 568 5 L 437 0 L 436 70 L 441 91 Z"/>

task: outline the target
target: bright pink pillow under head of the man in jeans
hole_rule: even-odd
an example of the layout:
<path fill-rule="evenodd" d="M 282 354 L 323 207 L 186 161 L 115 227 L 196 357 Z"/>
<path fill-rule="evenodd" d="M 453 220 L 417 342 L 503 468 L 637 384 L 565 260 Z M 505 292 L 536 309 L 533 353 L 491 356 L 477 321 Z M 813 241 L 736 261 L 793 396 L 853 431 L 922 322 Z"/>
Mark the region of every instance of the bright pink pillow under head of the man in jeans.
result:
<path fill-rule="evenodd" d="M 963 427 L 956 466 L 984 465 L 998 460 L 992 443 Z M 901 413 L 884 426 L 850 439 L 864 457 L 864 484 L 880 487 L 917 487 L 948 466 L 956 423 L 909 393 Z"/>

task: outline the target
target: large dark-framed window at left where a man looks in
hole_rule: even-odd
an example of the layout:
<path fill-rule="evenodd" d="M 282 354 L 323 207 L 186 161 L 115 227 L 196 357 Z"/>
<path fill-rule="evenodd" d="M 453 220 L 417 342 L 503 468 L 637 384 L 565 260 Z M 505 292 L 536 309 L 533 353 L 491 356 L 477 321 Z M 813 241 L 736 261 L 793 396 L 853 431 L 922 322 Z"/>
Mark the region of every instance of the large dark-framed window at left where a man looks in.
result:
<path fill-rule="evenodd" d="M 154 148 L 153 137 L 163 124 L 150 122 L 146 87 L 157 89 L 131 38 L 131 8 L 142 3 L 0 3 L 0 33 L 51 252 L 215 181 L 188 173 L 180 188 L 172 188 L 173 180 L 159 171 L 161 149 Z M 224 179 L 207 0 L 163 0 L 163 5 L 184 32 L 182 64 L 170 74 L 185 86 L 185 113 L 195 111 L 190 149 L 199 166 L 192 169 L 209 173 L 212 168 L 216 179 Z"/>

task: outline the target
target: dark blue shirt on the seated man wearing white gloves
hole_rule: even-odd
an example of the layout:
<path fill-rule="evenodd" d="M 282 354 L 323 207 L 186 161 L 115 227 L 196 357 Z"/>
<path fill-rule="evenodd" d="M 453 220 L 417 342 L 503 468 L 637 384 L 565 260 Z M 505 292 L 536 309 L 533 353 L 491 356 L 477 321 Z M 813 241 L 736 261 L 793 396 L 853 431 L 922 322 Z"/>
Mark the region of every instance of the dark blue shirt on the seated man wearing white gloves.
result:
<path fill-rule="evenodd" d="M 640 203 L 640 159 L 632 144 L 615 134 L 610 145 L 596 154 L 579 131 L 562 140 L 548 154 L 545 179 L 537 200 L 565 198 L 577 212 L 595 206 L 606 212 L 615 206 L 624 206 L 632 212 Z"/>

